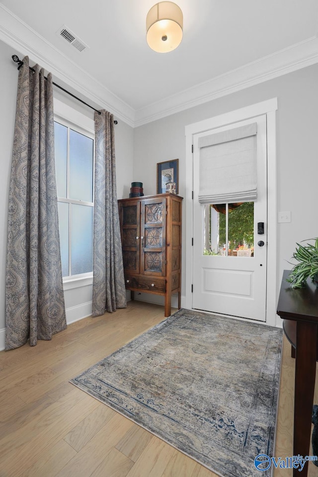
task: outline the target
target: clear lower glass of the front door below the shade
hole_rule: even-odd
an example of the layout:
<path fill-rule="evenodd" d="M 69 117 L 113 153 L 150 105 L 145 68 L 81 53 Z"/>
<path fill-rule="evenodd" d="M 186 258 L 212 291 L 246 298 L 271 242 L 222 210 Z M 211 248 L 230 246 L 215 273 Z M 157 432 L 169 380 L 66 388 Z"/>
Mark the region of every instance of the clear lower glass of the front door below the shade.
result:
<path fill-rule="evenodd" d="M 253 256 L 254 202 L 204 206 L 203 254 Z"/>

